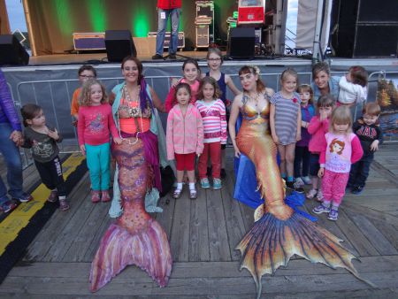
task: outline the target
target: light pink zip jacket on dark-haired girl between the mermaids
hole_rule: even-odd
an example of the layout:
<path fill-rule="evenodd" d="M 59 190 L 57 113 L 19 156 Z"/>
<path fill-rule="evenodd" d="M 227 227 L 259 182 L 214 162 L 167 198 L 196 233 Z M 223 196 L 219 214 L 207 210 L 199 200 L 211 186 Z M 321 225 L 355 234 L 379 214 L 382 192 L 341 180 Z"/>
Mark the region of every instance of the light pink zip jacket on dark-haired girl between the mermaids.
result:
<path fill-rule="evenodd" d="M 201 113 L 189 103 L 185 117 L 180 105 L 175 105 L 167 118 L 167 159 L 173 160 L 174 153 L 202 154 L 203 121 Z"/>

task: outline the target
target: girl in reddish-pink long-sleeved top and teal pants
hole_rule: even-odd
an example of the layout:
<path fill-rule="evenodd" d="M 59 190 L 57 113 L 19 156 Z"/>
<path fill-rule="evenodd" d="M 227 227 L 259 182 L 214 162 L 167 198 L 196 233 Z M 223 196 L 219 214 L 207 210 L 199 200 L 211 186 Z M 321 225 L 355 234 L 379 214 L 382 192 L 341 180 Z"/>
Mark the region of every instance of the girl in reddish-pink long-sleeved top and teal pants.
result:
<path fill-rule="evenodd" d="M 87 153 L 93 203 L 111 200 L 108 191 L 110 131 L 113 142 L 120 144 L 122 140 L 113 121 L 111 105 L 107 103 L 105 88 L 98 80 L 88 80 L 83 84 L 80 95 L 78 137 L 81 152 L 83 155 Z"/>

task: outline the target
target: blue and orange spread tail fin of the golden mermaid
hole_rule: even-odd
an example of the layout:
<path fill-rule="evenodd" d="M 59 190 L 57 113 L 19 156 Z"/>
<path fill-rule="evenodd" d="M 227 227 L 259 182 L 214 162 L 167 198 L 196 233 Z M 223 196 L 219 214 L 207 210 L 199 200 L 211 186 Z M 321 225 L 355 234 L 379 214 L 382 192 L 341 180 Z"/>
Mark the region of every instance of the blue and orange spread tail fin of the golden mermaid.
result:
<path fill-rule="evenodd" d="M 261 278 L 286 266 L 290 257 L 299 255 L 311 263 L 341 267 L 362 280 L 351 263 L 356 258 L 340 244 L 341 240 L 309 219 L 294 213 L 286 221 L 271 213 L 255 222 L 236 249 L 241 250 L 241 269 L 249 270 L 256 282 L 257 298 L 261 295 Z M 363 280 L 374 285 L 371 282 Z"/>

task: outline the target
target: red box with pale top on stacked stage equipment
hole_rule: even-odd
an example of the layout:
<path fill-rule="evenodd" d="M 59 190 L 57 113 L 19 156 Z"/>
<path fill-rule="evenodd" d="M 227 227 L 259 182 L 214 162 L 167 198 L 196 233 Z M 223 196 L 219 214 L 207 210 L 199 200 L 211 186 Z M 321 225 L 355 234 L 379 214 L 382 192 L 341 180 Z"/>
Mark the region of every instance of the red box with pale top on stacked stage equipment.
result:
<path fill-rule="evenodd" d="M 264 0 L 239 0 L 238 25 L 263 24 L 264 12 Z"/>

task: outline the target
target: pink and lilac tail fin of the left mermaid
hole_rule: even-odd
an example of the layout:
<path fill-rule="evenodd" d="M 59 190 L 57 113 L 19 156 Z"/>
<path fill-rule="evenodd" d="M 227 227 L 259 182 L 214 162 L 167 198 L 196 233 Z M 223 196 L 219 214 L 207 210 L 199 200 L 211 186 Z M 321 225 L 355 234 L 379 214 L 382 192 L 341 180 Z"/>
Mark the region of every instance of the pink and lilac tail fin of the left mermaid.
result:
<path fill-rule="evenodd" d="M 91 291 L 103 288 L 127 265 L 139 266 L 160 287 L 167 285 L 172 272 L 172 256 L 167 236 L 157 221 L 152 219 L 135 234 L 116 224 L 108 228 L 91 264 Z"/>

